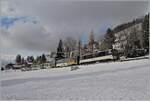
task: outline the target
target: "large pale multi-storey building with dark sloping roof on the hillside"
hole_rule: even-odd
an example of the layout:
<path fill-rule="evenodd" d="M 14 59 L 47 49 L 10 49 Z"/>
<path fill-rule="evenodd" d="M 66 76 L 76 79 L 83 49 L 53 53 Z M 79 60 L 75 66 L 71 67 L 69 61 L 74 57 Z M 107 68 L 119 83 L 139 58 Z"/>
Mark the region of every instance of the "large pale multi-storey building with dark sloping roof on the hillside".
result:
<path fill-rule="evenodd" d="M 135 23 L 131 22 L 121 26 L 125 26 L 125 27 L 120 27 L 120 28 L 116 28 L 114 29 L 115 32 L 115 43 L 113 45 L 113 48 L 118 50 L 118 51 L 123 51 L 126 48 L 126 45 L 132 45 L 129 42 L 129 38 L 130 37 L 134 37 L 132 35 L 132 33 L 135 33 L 136 35 L 136 40 L 139 41 L 140 44 L 140 48 L 143 47 L 143 28 L 142 28 L 142 23 L 143 20 L 138 20 Z"/>

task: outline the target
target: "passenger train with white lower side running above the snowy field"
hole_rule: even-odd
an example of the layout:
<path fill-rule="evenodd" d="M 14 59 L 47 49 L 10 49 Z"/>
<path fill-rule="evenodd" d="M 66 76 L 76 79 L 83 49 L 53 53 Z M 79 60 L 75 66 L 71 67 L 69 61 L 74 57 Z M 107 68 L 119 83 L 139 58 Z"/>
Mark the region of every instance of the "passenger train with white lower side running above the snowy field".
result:
<path fill-rule="evenodd" d="M 80 56 L 80 64 L 89 64 L 95 62 L 104 62 L 104 61 L 111 61 L 116 59 L 115 56 L 112 55 L 111 50 L 107 51 L 97 51 L 89 54 L 84 54 Z M 57 67 L 65 67 L 77 65 L 77 57 L 65 58 L 57 60 L 56 66 Z"/>

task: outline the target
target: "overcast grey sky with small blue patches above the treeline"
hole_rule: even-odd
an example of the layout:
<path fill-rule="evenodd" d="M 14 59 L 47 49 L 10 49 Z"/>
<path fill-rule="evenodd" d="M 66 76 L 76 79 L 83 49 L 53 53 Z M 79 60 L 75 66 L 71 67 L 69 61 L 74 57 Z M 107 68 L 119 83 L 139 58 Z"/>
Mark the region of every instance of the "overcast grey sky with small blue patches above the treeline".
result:
<path fill-rule="evenodd" d="M 68 36 L 86 42 L 91 30 L 101 36 L 148 13 L 149 2 L 1 0 L 0 7 L 0 55 L 14 58 L 54 51 Z"/>

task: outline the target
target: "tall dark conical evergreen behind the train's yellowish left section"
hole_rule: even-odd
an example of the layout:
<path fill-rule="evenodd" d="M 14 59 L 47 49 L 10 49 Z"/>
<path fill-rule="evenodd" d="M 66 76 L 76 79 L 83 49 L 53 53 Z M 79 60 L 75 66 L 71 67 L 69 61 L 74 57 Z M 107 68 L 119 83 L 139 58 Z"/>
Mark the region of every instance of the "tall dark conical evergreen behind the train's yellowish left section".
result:
<path fill-rule="evenodd" d="M 62 43 L 62 40 L 60 39 L 58 48 L 57 48 L 56 59 L 62 59 L 62 58 L 64 58 L 64 51 L 63 51 L 63 43 Z"/>

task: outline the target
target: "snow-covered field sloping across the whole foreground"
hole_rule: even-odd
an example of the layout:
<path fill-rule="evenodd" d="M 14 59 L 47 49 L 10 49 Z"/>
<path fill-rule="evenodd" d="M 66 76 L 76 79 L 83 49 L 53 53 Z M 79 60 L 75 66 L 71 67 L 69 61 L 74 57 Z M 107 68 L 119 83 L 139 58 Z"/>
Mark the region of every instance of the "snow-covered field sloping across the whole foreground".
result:
<path fill-rule="evenodd" d="M 1 99 L 150 100 L 149 59 L 1 72 Z"/>

